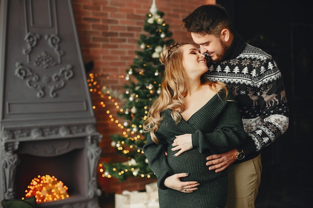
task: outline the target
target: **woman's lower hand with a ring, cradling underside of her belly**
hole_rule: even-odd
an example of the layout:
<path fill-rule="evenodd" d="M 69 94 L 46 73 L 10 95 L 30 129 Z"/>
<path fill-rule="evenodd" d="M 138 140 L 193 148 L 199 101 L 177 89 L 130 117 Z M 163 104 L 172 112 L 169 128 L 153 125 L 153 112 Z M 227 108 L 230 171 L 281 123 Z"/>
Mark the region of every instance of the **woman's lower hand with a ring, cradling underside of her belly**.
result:
<path fill-rule="evenodd" d="M 178 192 L 192 193 L 193 191 L 198 190 L 197 186 L 199 185 L 199 183 L 196 181 L 180 181 L 180 178 L 187 177 L 188 175 L 188 173 L 171 175 L 165 179 L 164 185 L 165 187 L 176 190 Z"/>

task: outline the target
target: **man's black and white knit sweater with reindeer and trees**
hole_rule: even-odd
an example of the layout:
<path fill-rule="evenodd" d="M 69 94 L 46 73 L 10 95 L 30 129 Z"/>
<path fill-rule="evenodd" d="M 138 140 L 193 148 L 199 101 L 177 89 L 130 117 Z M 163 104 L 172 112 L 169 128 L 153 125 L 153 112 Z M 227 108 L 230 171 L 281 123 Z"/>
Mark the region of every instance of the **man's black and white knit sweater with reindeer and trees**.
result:
<path fill-rule="evenodd" d="M 242 161 L 249 160 L 288 128 L 288 106 L 281 73 L 276 62 L 251 46 L 235 32 L 234 40 L 219 62 L 209 62 L 206 78 L 230 87 L 248 133 Z"/>

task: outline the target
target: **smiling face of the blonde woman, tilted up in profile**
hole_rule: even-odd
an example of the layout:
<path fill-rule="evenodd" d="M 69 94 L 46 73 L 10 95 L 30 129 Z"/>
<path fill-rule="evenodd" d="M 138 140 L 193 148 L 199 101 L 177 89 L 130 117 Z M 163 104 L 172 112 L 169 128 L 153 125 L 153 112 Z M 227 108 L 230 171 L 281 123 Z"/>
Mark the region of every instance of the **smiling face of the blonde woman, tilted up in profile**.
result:
<path fill-rule="evenodd" d="M 195 45 L 185 44 L 181 46 L 182 66 L 189 78 L 199 78 L 207 71 L 206 59 Z"/>

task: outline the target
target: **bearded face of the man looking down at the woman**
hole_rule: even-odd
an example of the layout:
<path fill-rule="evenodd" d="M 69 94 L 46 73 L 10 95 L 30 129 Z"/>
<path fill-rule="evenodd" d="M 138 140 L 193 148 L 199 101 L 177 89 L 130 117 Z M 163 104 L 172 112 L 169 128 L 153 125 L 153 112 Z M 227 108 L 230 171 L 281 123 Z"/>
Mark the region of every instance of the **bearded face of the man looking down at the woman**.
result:
<path fill-rule="evenodd" d="M 220 61 L 228 49 L 222 35 L 216 37 L 212 34 L 191 32 L 192 40 L 200 46 L 200 52 L 207 53 L 212 61 Z"/>

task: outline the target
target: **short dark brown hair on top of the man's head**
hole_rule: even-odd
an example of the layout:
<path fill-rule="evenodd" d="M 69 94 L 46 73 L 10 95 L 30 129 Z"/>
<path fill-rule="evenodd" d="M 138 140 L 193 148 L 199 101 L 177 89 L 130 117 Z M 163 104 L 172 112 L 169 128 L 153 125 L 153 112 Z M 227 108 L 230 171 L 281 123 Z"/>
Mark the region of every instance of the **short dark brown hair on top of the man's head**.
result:
<path fill-rule="evenodd" d="M 201 5 L 182 19 L 181 26 L 188 32 L 218 36 L 223 28 L 232 32 L 228 12 L 220 4 Z"/>

